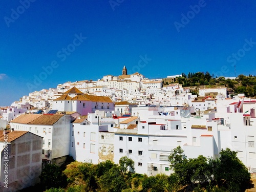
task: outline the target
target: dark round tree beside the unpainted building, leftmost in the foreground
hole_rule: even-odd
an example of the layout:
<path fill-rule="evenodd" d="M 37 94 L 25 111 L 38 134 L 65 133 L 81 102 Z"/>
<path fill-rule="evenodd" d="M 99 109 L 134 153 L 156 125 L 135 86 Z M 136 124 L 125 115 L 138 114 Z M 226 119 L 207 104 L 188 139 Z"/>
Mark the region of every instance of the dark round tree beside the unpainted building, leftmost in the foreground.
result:
<path fill-rule="evenodd" d="M 39 176 L 41 185 L 46 189 L 66 186 L 66 177 L 56 164 L 47 164 Z"/>

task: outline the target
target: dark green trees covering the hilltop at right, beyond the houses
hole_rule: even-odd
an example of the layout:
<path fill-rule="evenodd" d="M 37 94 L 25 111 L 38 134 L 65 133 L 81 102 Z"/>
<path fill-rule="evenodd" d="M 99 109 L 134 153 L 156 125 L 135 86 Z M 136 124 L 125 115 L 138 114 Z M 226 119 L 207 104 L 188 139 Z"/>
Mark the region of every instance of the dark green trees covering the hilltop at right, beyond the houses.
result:
<path fill-rule="evenodd" d="M 218 87 L 225 86 L 234 92 L 234 94 L 244 93 L 246 97 L 256 96 L 256 77 L 249 75 L 239 75 L 236 79 L 225 79 L 224 77 L 214 77 L 214 74 L 210 75 L 209 72 L 202 73 L 182 73 L 181 77 L 175 78 L 176 83 L 180 83 L 183 87 L 195 87 L 191 90 L 194 94 L 197 93 L 200 87 Z M 170 82 L 163 79 L 164 86 L 168 86 Z"/>

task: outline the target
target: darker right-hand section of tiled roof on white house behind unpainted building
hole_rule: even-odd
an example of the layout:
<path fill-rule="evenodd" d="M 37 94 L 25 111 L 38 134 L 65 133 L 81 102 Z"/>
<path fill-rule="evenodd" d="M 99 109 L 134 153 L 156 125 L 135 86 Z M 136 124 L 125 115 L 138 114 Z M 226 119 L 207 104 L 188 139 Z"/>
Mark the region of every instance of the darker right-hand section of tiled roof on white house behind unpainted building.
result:
<path fill-rule="evenodd" d="M 31 121 L 28 124 L 47 124 L 47 125 L 53 125 L 56 123 L 63 114 L 44 114 L 40 117 L 36 118 L 35 120 Z"/>

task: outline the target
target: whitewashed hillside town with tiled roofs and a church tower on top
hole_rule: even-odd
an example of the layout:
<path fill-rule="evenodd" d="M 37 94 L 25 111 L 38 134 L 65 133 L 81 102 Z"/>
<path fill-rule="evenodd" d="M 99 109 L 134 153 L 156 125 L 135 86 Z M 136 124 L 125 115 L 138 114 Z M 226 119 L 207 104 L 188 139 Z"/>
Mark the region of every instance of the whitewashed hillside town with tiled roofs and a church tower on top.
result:
<path fill-rule="evenodd" d="M 125 66 L 120 72 L 34 91 L 1 108 L 1 188 L 5 154 L 9 191 L 35 185 L 46 164 L 61 166 L 69 156 L 94 164 L 126 156 L 138 174 L 169 175 L 177 146 L 187 158 L 213 159 L 230 148 L 256 173 L 256 99 L 230 97 L 225 86 L 193 95 L 175 81 L 181 75 L 164 86 Z"/>

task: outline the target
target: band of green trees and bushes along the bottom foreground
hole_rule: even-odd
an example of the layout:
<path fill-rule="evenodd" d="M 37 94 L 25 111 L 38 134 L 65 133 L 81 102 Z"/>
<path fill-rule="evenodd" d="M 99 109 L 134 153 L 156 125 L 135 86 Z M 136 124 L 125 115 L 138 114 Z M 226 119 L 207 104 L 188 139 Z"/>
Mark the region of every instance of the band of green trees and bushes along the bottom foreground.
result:
<path fill-rule="evenodd" d="M 187 159 L 178 146 L 169 156 L 170 168 L 174 170 L 169 176 L 136 174 L 134 161 L 124 156 L 119 164 L 110 160 L 97 165 L 74 161 L 63 172 L 56 165 L 47 165 L 40 180 L 47 192 L 240 192 L 253 187 L 236 152 L 227 148 L 220 155 L 215 160 L 202 155 Z"/>

